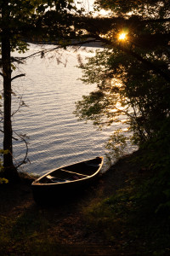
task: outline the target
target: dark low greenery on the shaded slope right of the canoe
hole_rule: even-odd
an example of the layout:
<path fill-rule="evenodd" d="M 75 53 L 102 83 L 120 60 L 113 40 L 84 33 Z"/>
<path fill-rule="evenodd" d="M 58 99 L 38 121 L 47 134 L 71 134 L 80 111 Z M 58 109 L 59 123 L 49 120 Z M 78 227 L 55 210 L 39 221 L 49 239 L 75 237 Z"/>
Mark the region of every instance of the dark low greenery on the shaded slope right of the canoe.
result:
<path fill-rule="evenodd" d="M 86 221 L 126 253 L 135 245 L 135 255 L 166 255 L 170 238 L 168 210 L 156 211 L 163 195 L 156 190 L 154 193 L 153 189 L 161 188 L 150 183 L 148 172 L 142 172 L 139 177 L 131 173 L 124 188 L 84 208 Z"/>

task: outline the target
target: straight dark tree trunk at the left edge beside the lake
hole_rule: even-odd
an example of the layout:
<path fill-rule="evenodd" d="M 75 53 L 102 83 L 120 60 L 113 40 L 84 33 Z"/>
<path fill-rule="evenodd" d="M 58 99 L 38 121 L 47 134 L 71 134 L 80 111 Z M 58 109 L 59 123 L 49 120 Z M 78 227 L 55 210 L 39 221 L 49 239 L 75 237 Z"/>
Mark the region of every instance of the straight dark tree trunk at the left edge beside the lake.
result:
<path fill-rule="evenodd" d="M 12 122 L 11 122 L 11 58 L 8 29 L 3 29 L 2 37 L 3 64 L 3 167 L 4 174 L 10 181 L 18 179 L 19 175 L 13 163 Z"/>

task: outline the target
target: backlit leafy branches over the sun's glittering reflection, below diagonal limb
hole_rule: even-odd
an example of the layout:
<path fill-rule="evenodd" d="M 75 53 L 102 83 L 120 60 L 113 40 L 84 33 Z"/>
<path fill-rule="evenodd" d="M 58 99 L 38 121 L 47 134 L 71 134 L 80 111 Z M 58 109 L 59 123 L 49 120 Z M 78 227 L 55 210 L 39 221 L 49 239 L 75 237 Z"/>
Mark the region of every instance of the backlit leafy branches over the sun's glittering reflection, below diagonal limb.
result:
<path fill-rule="evenodd" d="M 146 58 L 149 53 L 146 52 Z M 150 61 L 168 66 L 168 57 L 150 53 Z M 134 68 L 135 67 L 135 68 Z M 143 143 L 155 137 L 170 111 L 169 83 L 150 70 L 145 63 L 117 49 L 98 51 L 83 65 L 85 83 L 96 83 L 98 90 L 77 102 L 77 115 L 93 119 L 94 124 L 110 124 L 127 115 L 133 141 Z M 106 119 L 106 120 L 105 120 Z"/>

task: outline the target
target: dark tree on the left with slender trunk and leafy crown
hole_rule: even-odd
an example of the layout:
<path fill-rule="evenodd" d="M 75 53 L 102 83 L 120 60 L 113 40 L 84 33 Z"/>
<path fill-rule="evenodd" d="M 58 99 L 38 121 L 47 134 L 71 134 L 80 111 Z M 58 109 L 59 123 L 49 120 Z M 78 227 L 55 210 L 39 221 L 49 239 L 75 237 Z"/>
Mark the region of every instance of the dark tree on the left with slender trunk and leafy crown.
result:
<path fill-rule="evenodd" d="M 3 167 L 10 180 L 18 178 L 13 163 L 13 129 L 11 122 L 12 81 L 25 74 L 12 77 L 14 64 L 21 62 L 11 53 L 25 52 L 27 40 L 41 42 L 57 40 L 67 42 L 75 36 L 71 27 L 72 0 L 1 0 L 0 40 L 1 66 L 3 77 Z M 65 43 L 63 43 L 65 44 Z"/>

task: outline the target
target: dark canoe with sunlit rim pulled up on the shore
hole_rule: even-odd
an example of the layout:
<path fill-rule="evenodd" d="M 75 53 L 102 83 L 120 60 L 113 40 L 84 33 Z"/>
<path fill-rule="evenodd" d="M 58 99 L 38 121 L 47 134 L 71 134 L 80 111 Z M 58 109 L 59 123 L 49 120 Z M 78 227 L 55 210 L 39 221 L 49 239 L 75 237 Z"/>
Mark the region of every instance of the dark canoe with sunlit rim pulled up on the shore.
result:
<path fill-rule="evenodd" d="M 103 157 L 96 157 L 46 173 L 31 183 L 34 200 L 57 202 L 77 194 L 94 182 L 102 165 Z"/>

